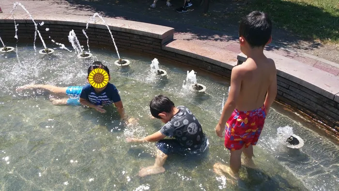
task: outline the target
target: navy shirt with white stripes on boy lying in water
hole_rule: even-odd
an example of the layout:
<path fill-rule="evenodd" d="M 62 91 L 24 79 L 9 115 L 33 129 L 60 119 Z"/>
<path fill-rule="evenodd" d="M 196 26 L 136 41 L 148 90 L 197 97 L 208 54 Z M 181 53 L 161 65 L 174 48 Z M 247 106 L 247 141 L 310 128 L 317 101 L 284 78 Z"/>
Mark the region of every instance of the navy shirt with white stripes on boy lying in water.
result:
<path fill-rule="evenodd" d="M 117 88 L 111 83 L 108 83 L 100 93 L 96 93 L 91 84 L 86 84 L 82 88 L 80 97 L 90 101 L 92 104 L 103 106 L 121 101 Z"/>

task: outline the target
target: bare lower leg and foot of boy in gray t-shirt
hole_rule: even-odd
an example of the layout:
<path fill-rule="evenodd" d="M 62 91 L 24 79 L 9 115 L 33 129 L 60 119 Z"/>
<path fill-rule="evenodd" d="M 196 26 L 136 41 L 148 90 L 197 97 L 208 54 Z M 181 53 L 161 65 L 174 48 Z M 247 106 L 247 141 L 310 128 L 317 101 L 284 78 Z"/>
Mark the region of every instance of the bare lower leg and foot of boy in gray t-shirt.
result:
<path fill-rule="evenodd" d="M 165 172 L 165 168 L 163 167 L 168 155 L 160 151 L 159 149 L 156 151 L 155 162 L 153 166 L 149 166 L 146 168 L 142 168 L 139 171 L 139 176 L 143 177 L 146 175 L 154 175 Z"/>

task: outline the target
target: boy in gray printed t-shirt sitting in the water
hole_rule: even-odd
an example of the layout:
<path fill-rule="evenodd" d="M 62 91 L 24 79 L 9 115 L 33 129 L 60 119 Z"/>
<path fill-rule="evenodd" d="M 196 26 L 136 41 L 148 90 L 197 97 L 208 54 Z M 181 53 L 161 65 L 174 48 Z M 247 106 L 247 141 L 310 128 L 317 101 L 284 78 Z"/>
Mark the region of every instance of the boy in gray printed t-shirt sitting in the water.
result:
<path fill-rule="evenodd" d="M 202 131 L 198 119 L 185 106 L 175 107 L 166 96 L 155 96 L 150 102 L 153 117 L 165 123 L 161 129 L 147 137 L 127 138 L 127 142 L 156 142 L 158 148 L 153 166 L 142 168 L 139 176 L 165 172 L 163 167 L 171 153 L 182 155 L 201 154 L 208 146 L 207 137 Z M 174 139 L 164 139 L 173 137 Z"/>

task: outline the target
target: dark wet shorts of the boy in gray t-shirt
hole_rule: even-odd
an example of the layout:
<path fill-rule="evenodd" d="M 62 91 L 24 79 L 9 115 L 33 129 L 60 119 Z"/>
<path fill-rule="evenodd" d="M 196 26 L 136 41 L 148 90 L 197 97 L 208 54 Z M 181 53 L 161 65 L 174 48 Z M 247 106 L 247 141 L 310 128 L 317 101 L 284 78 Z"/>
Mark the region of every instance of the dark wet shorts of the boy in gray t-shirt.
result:
<path fill-rule="evenodd" d="M 180 145 L 180 143 L 175 139 L 163 139 L 155 143 L 156 147 L 166 155 L 175 153 L 180 155 L 200 155 L 208 147 L 208 139 L 205 137 L 204 143 L 202 143 L 197 148 L 186 148 Z"/>

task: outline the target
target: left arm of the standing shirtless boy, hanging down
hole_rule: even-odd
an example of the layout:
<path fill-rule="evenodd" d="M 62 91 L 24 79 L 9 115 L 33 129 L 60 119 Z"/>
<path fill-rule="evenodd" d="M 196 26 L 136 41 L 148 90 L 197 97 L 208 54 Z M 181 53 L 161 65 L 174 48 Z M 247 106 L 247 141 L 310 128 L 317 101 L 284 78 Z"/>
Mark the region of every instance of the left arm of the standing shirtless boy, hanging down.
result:
<path fill-rule="evenodd" d="M 224 105 L 224 109 L 222 110 L 221 117 L 219 119 L 218 124 L 216 125 L 216 135 L 222 137 L 222 132 L 225 130 L 225 124 L 227 120 L 230 118 L 232 112 L 234 111 L 237 103 L 237 98 L 240 94 L 242 75 L 241 68 L 239 66 L 235 66 L 231 72 L 231 90 L 229 93 L 229 97 Z"/>

